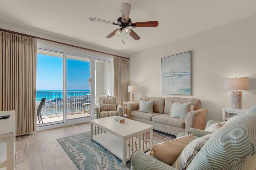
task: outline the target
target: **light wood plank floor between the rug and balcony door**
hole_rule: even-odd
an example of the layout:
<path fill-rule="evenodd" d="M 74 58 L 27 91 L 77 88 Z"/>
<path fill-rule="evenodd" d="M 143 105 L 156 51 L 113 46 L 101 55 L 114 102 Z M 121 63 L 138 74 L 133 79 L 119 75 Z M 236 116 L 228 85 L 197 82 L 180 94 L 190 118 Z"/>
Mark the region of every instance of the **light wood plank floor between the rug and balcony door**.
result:
<path fill-rule="evenodd" d="M 16 137 L 16 170 L 77 169 L 56 139 L 90 131 L 90 122 Z"/>

